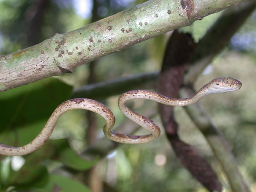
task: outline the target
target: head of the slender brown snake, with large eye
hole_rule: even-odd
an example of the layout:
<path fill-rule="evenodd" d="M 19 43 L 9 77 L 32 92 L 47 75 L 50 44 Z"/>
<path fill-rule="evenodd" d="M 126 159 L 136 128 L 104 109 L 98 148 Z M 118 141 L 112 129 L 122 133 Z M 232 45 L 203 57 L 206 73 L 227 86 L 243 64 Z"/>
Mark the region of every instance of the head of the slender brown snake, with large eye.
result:
<path fill-rule="evenodd" d="M 242 83 L 231 77 L 220 77 L 213 79 L 207 84 L 207 90 L 209 93 L 224 93 L 228 91 L 239 90 Z"/>

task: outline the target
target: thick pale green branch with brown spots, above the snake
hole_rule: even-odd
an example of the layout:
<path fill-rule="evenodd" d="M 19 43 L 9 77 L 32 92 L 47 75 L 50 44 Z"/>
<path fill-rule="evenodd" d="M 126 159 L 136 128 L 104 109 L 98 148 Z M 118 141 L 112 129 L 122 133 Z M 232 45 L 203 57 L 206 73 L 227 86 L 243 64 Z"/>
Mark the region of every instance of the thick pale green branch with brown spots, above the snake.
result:
<path fill-rule="evenodd" d="M 244 0 L 149 0 L 66 34 L 0 57 L 0 91 L 72 72 L 76 67 L 188 26 Z"/>

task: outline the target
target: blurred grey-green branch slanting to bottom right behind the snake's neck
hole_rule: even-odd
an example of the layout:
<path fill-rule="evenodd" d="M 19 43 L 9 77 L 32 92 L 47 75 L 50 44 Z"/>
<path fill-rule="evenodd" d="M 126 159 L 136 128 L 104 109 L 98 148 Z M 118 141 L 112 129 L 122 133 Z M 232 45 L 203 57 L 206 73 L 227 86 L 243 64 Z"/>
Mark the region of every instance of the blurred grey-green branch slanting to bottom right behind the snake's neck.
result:
<path fill-rule="evenodd" d="M 183 88 L 180 92 L 180 96 L 182 98 L 193 95 L 195 95 L 195 91 L 189 87 Z M 211 146 L 215 157 L 221 163 L 222 169 L 227 176 L 232 191 L 249 192 L 250 190 L 241 176 L 239 167 L 230 147 L 204 108 L 198 102 L 195 105 L 186 106 L 185 110 L 197 128 L 199 128 L 202 134 L 204 134 L 204 137 Z"/>

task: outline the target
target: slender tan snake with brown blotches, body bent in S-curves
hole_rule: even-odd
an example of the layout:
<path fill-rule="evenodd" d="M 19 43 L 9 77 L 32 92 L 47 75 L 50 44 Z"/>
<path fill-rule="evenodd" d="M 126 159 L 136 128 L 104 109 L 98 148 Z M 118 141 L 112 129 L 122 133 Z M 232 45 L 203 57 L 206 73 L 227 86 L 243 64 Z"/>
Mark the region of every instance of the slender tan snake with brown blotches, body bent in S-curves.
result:
<path fill-rule="evenodd" d="M 49 117 L 47 123 L 45 124 L 42 131 L 32 140 L 30 143 L 22 147 L 12 147 L 9 145 L 4 145 L 0 143 L 0 154 L 8 156 L 26 155 L 32 153 L 33 151 L 40 148 L 48 140 L 52 131 L 57 123 L 59 117 L 65 112 L 73 109 L 84 109 L 88 111 L 93 111 L 105 119 L 105 125 L 103 127 L 103 132 L 105 136 L 119 143 L 127 144 L 139 144 L 148 143 L 159 137 L 160 128 L 151 119 L 142 116 L 131 109 L 129 109 L 125 102 L 132 99 L 149 99 L 155 102 L 161 103 L 163 105 L 171 106 L 186 106 L 192 105 L 198 102 L 204 96 L 214 94 L 214 93 L 224 93 L 229 91 L 239 90 L 242 84 L 239 80 L 233 79 L 231 77 L 221 77 L 216 78 L 205 84 L 198 92 L 189 98 L 185 99 L 175 99 L 169 98 L 150 90 L 131 90 L 123 93 L 118 99 L 118 105 L 120 111 L 124 113 L 132 121 L 136 122 L 138 125 L 142 126 L 150 132 L 147 135 L 128 135 L 120 134 L 112 130 L 115 123 L 115 116 L 112 111 L 104 104 L 97 102 L 92 99 L 77 98 L 69 99 L 60 105 L 53 111 L 52 115 Z"/>

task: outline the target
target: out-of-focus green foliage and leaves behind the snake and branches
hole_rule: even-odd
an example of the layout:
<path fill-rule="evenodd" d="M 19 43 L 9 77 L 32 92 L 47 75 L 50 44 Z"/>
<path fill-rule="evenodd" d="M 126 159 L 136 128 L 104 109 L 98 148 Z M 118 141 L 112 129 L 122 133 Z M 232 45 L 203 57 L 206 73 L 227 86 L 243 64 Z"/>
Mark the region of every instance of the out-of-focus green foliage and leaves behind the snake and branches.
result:
<path fill-rule="evenodd" d="M 79 3 L 81 0 L 0 0 L 0 54 L 32 46 L 55 33 L 68 32 L 90 23 L 93 9 L 89 9 L 87 17 L 83 17 L 78 9 Z M 93 3 L 97 6 L 96 14 L 100 19 L 143 3 L 143 0 L 87 0 L 86 3 L 87 8 L 92 7 Z M 209 15 L 180 30 L 191 32 L 195 41 L 198 41 L 219 14 Z M 214 59 L 195 83 L 195 87 L 200 88 L 217 76 L 232 76 L 243 83 L 241 90 L 209 96 L 202 99 L 202 104 L 224 134 L 252 191 L 256 191 L 255 33 L 256 12 L 234 35 L 230 46 Z M 95 68 L 98 81 L 160 70 L 168 37 L 169 33 L 99 58 Z M 3 119 L 1 143 L 19 146 L 29 143 L 44 126 L 53 109 L 68 99 L 71 88 L 87 84 L 89 73 L 86 64 L 72 74 L 44 79 L 0 93 Z M 119 112 L 117 98 L 113 96 L 104 102 L 115 114 L 118 125 L 125 117 Z M 136 110 L 145 105 L 145 101 L 138 100 L 131 105 Z M 153 102 L 146 102 L 146 105 L 156 107 Z M 182 140 L 195 146 L 209 160 L 222 183 L 226 183 L 207 142 L 183 108 L 175 108 L 175 114 Z M 161 125 L 159 116 L 153 120 Z M 87 147 L 84 141 L 87 124 L 84 111 L 70 111 L 60 118 L 51 138 L 69 138 L 73 150 L 79 152 Z M 99 137 L 102 137 L 104 120 L 99 116 L 97 125 Z M 144 130 L 138 132 L 145 133 Z M 24 156 L 25 164 L 21 168 L 15 169 L 15 162 L 18 162 L 15 158 L 0 157 L 1 191 L 88 190 L 84 178 L 86 176 L 81 176 L 81 170 L 92 166 L 96 160 L 89 163 L 81 160 L 72 153 L 64 140 L 49 140 L 45 145 L 33 154 Z M 65 170 L 58 172 L 58 175 L 53 174 L 60 162 L 76 164 L 77 167 L 73 169 L 77 172 Z M 206 191 L 177 160 L 163 130 L 160 138 L 153 143 L 120 145 L 113 154 L 99 161 L 98 165 L 97 172 L 102 180 L 116 191 Z M 27 175 L 21 176 L 23 173 Z M 18 182 L 17 178 L 20 178 Z M 227 183 L 224 188 L 228 189 Z"/>

